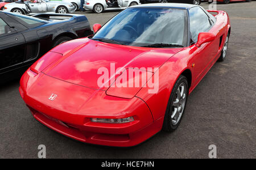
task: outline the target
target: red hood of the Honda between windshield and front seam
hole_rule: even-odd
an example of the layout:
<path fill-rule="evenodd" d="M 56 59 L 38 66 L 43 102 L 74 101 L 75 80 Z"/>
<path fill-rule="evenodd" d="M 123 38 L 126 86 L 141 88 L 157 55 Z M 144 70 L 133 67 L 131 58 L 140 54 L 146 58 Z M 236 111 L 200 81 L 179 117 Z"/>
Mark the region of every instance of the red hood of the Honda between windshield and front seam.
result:
<path fill-rule="evenodd" d="M 43 70 L 43 73 L 94 90 L 107 90 L 108 86 L 98 86 L 98 79 L 103 74 L 102 70 L 108 71 L 108 80 L 115 79 L 119 75 L 115 73 L 117 70 L 134 67 L 141 70 L 148 67 L 159 68 L 170 57 L 182 50 L 182 48 L 139 48 L 89 39 L 85 41 L 78 48 L 69 50 L 67 53 L 61 52 L 63 57 Z M 61 46 L 65 48 L 68 44 L 57 48 L 62 49 Z M 59 52 L 55 49 L 52 51 Z"/>

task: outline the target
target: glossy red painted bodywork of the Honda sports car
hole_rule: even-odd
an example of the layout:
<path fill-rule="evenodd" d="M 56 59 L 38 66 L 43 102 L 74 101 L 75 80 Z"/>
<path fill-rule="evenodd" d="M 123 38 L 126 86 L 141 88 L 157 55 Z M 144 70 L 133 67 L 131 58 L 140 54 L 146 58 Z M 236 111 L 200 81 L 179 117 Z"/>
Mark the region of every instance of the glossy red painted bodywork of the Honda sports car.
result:
<path fill-rule="evenodd" d="M 215 11 L 217 22 L 210 29 L 215 36 L 200 48 L 140 48 L 78 39 L 57 46 L 40 58 L 20 80 L 20 95 L 36 120 L 68 137 L 108 146 L 134 146 L 162 129 L 172 87 L 184 70 L 192 73 L 189 94 L 220 57 L 222 40 L 230 28 L 228 15 Z M 159 91 L 148 88 L 98 87 L 100 67 L 160 67 Z M 195 67 L 192 67 L 195 63 Z M 143 71 L 142 71 L 143 74 Z M 152 78 L 154 78 L 153 75 Z M 112 79 L 118 74 L 112 75 Z M 58 96 L 48 100 L 51 94 Z M 96 118 L 134 117 L 125 124 L 90 122 Z M 65 124 L 63 124 L 65 122 Z"/>

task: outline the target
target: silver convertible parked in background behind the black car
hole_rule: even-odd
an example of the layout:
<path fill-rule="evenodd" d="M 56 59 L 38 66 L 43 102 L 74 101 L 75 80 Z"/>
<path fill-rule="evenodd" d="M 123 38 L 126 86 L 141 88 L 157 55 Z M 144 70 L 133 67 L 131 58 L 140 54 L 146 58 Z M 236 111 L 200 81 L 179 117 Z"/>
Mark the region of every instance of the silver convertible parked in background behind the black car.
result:
<path fill-rule="evenodd" d="M 44 12 L 56 12 L 60 14 L 67 14 L 75 12 L 75 7 L 72 5 L 72 3 L 61 1 L 17 1 L 5 5 L 4 11 L 16 12 L 18 14 L 36 14 Z"/>

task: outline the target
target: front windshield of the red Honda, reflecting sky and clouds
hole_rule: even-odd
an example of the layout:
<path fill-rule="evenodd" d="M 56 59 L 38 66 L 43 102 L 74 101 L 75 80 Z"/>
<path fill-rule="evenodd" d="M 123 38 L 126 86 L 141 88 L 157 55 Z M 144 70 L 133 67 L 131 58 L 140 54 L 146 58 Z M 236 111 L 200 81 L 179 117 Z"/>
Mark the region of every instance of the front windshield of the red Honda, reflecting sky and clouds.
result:
<path fill-rule="evenodd" d="M 130 46 L 185 46 L 187 11 L 177 8 L 127 8 L 106 23 L 92 39 Z"/>

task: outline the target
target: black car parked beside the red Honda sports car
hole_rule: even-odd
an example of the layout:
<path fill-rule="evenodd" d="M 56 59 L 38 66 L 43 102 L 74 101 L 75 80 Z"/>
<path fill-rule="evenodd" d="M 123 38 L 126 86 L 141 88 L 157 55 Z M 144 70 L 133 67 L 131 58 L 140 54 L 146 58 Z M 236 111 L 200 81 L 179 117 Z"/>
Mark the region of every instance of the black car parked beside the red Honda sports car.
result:
<path fill-rule="evenodd" d="M 92 34 L 84 15 L 26 16 L 0 11 L 1 82 L 22 74 L 54 46 Z"/>

